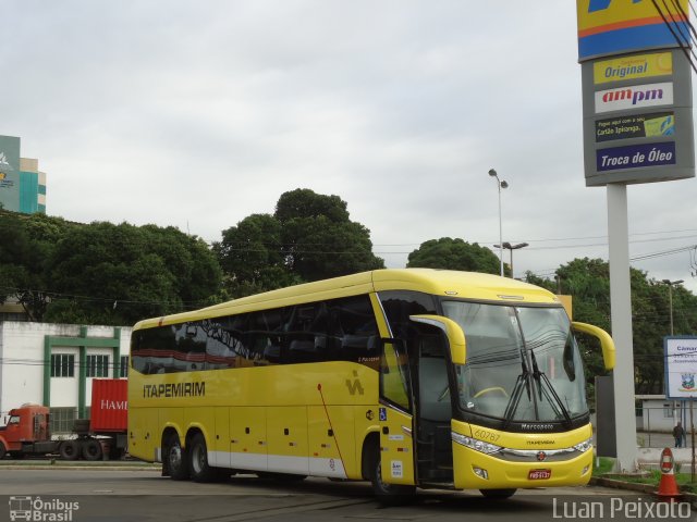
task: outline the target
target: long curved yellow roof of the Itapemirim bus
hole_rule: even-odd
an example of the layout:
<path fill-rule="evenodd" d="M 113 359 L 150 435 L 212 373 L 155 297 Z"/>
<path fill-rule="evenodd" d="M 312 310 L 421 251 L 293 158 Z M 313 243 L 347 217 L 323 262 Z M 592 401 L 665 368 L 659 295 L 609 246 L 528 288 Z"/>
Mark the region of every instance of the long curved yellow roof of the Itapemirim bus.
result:
<path fill-rule="evenodd" d="M 254 310 L 386 290 L 415 290 L 435 296 L 486 301 L 549 304 L 560 302 L 552 293 L 545 288 L 498 275 L 437 269 L 386 269 L 289 286 L 234 299 L 201 310 L 148 319 L 139 321 L 134 328 L 218 318 Z"/>

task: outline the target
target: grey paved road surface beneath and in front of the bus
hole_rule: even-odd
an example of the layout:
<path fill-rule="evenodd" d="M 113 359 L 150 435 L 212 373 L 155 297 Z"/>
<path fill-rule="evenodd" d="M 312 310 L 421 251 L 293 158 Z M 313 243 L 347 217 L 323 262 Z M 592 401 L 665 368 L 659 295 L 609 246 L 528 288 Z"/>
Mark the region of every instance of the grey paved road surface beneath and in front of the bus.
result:
<path fill-rule="evenodd" d="M 30 509 L 41 508 L 34 511 L 40 511 L 42 520 L 61 520 L 56 517 L 63 513 L 62 520 L 70 522 L 542 522 L 591 518 L 584 517 L 584 507 L 595 519 L 637 520 L 636 514 L 627 518 L 617 511 L 621 506 L 643 508 L 639 520 L 662 520 L 652 519 L 653 512 L 646 515 L 656 509 L 649 508 L 655 505 L 646 495 L 623 495 L 600 487 L 551 488 L 492 501 L 477 492 L 421 492 L 409 506 L 383 508 L 367 483 L 308 478 L 289 485 L 245 475 L 219 484 L 193 484 L 155 471 L 0 469 L 0 521 L 10 520 L 11 508 L 22 513 L 29 502 Z M 681 520 L 681 513 L 695 520 L 686 508 L 674 511 L 677 517 L 671 520 Z"/>

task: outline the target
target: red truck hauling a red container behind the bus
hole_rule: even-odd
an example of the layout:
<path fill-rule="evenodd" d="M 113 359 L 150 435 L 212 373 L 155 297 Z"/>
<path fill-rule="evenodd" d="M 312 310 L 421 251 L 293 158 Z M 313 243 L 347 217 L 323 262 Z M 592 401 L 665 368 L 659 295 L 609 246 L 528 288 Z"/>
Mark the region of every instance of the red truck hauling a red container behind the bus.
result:
<path fill-rule="evenodd" d="M 91 383 L 91 419 L 76 419 L 74 437 L 53 440 L 49 409 L 23 405 L 10 410 L 0 426 L 0 459 L 5 455 L 21 459 L 29 455 L 58 453 L 64 460 L 108 460 L 126 450 L 127 381 L 99 378 Z"/>

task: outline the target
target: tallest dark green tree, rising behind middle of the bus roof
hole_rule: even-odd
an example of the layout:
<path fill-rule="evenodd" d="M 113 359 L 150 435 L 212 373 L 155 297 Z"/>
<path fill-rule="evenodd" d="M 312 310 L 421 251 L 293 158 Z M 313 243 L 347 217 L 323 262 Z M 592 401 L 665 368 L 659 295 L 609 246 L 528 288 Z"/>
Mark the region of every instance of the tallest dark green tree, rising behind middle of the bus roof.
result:
<path fill-rule="evenodd" d="M 384 266 L 346 202 L 309 189 L 284 192 L 273 215 L 252 214 L 222 235 L 213 249 L 235 297 Z"/>

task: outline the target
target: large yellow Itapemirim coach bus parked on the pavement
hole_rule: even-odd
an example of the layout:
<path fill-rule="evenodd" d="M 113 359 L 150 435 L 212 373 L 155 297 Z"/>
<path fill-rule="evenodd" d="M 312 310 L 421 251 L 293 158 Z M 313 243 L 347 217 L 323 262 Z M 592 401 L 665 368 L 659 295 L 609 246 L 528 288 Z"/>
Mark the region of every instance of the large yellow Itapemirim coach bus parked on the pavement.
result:
<path fill-rule="evenodd" d="M 416 487 L 586 484 L 584 364 L 558 298 L 489 274 L 377 270 L 134 326 L 129 450 L 174 480 L 240 472 Z"/>

